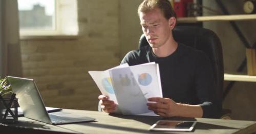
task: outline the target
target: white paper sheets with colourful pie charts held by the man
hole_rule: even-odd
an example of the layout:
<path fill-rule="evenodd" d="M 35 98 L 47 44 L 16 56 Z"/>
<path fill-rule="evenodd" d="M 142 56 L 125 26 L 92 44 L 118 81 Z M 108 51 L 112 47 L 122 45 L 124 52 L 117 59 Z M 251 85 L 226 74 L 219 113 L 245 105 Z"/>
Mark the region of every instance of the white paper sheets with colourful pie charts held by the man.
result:
<path fill-rule="evenodd" d="M 118 104 L 115 113 L 155 115 L 147 109 L 147 98 L 162 97 L 159 66 L 155 62 L 122 64 L 106 71 L 89 71 L 101 93 Z"/>

